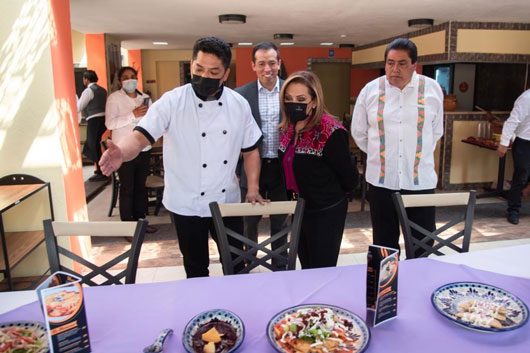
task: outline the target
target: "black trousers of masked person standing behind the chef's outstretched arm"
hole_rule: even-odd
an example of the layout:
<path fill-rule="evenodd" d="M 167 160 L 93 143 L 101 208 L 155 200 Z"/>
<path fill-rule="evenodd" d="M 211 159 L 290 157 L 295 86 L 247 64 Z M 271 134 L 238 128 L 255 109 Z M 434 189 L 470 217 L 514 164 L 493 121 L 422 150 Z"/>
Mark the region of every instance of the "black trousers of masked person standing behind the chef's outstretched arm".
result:
<path fill-rule="evenodd" d="M 120 177 L 120 219 L 137 221 L 147 213 L 147 188 L 145 180 L 149 175 L 151 152 L 140 152 L 132 161 L 125 162 L 118 169 Z"/>

